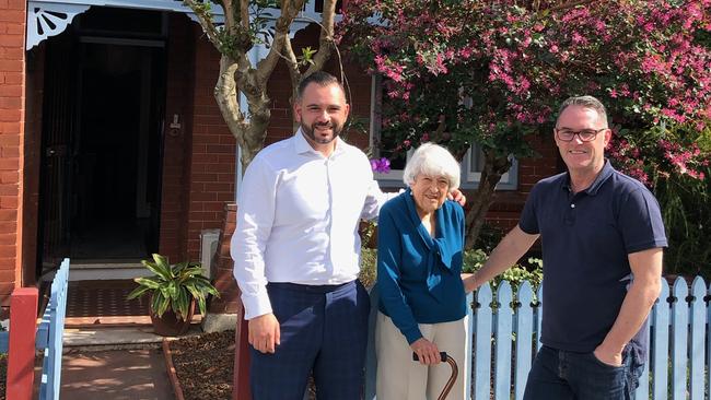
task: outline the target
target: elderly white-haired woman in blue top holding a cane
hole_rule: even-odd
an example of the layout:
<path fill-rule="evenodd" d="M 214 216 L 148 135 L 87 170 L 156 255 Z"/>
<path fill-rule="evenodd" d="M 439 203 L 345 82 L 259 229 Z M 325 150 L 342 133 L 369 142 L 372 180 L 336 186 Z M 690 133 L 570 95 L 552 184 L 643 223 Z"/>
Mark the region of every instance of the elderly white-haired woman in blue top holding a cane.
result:
<path fill-rule="evenodd" d="M 436 144 L 422 144 L 405 167 L 409 188 L 381 209 L 377 233 L 376 326 L 378 399 L 436 399 L 459 366 L 447 399 L 464 399 L 466 302 L 462 278 L 464 210 L 446 201 L 459 165 Z M 412 361 L 417 353 L 420 363 Z"/>

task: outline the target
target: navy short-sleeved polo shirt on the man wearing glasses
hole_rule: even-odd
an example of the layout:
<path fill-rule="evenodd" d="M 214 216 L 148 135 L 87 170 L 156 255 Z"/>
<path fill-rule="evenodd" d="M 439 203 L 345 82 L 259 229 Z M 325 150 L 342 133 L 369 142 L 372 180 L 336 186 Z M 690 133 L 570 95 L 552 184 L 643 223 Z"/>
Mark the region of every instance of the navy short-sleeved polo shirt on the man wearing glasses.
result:
<path fill-rule="evenodd" d="M 592 352 L 613 327 L 631 277 L 627 256 L 667 246 L 654 196 L 608 161 L 578 193 L 568 173 L 540 180 L 518 225 L 540 234 L 543 245 L 541 342 L 574 352 Z M 630 342 L 640 356 L 646 353 L 645 327 Z"/>

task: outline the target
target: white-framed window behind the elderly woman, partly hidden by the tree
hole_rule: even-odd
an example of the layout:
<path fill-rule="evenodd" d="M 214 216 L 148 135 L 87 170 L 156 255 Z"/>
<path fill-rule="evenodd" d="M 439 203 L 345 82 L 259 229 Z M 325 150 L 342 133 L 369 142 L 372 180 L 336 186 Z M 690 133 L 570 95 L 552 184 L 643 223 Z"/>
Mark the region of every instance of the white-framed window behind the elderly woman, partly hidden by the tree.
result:
<path fill-rule="evenodd" d="M 383 137 L 382 132 L 382 109 L 383 102 L 387 102 L 387 96 L 383 94 L 382 78 L 376 75 L 371 81 L 371 126 L 370 126 L 370 146 L 373 149 L 371 157 L 381 158 L 386 157 L 391 161 L 391 172 L 387 174 L 375 173 L 377 179 L 383 187 L 401 187 L 403 172 L 407 160 L 412 155 L 412 150 L 407 153 L 400 153 L 394 156 L 393 149 L 398 146 L 394 138 Z M 383 150 L 381 150 L 383 149 Z M 483 168 L 483 153 L 475 144 L 464 156 L 462 161 L 462 188 L 475 189 L 479 179 L 481 178 L 481 169 Z M 512 161 L 511 169 L 501 176 L 498 190 L 515 190 L 517 184 L 518 163 L 515 158 Z"/>

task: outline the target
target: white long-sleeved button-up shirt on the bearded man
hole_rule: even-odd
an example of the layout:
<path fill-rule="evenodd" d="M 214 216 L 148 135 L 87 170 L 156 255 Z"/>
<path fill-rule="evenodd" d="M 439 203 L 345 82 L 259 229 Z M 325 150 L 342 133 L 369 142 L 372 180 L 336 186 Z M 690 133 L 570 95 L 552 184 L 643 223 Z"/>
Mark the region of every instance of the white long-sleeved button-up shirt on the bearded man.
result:
<path fill-rule="evenodd" d="M 267 282 L 323 285 L 358 278 L 360 219 L 375 219 L 387 197 L 365 154 L 336 140 L 326 157 L 300 129 L 247 167 L 230 249 L 245 319 L 271 313 Z"/>

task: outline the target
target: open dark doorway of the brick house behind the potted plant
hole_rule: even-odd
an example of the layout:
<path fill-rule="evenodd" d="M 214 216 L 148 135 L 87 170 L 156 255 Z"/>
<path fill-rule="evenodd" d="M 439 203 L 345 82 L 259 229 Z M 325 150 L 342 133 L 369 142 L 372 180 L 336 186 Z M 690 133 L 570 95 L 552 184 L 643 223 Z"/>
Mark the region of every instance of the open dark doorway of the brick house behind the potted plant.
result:
<path fill-rule="evenodd" d="M 162 48 L 82 43 L 70 257 L 156 251 Z M 160 68 L 158 68 L 160 69 Z M 153 216 L 153 219 L 151 217 Z"/>

